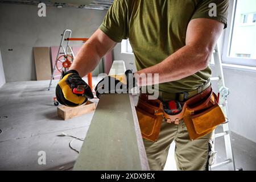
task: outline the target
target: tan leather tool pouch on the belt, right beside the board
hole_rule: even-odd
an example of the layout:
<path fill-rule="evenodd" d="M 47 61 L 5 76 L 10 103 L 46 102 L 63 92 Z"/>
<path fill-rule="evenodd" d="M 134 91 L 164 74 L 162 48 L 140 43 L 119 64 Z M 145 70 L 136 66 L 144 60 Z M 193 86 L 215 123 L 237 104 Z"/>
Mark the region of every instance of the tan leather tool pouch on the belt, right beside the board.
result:
<path fill-rule="evenodd" d="M 159 100 L 148 100 L 141 94 L 136 106 L 139 126 L 144 139 L 156 142 L 163 121 L 163 106 Z"/>

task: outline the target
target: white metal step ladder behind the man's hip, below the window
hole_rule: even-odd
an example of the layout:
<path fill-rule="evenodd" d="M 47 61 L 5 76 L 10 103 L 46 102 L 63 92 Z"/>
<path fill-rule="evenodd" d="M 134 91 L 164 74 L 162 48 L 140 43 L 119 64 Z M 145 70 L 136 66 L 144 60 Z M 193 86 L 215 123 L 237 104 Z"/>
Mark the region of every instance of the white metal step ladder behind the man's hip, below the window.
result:
<path fill-rule="evenodd" d="M 214 65 L 215 65 L 215 69 L 216 69 L 215 72 L 216 72 L 217 77 L 212 77 L 212 78 L 210 78 L 210 80 L 218 82 L 218 90 L 220 93 L 219 105 L 226 116 L 226 122 L 222 124 L 222 128 L 223 128 L 222 133 L 214 132 L 214 134 L 213 134 L 212 152 L 213 152 L 213 155 L 217 154 L 217 152 L 214 151 L 214 139 L 216 139 L 218 137 L 224 137 L 226 160 L 224 162 L 217 163 L 217 164 L 213 163 L 212 165 L 209 166 L 209 170 L 212 171 L 213 169 L 217 169 L 218 167 L 227 166 L 229 171 L 234 171 L 234 170 L 236 170 L 236 167 L 234 164 L 234 156 L 233 156 L 232 144 L 231 144 L 231 139 L 230 139 L 229 119 L 228 119 L 227 96 L 229 95 L 229 89 L 226 88 L 226 86 L 225 86 L 222 63 L 221 63 L 221 55 L 218 50 L 218 46 L 216 46 L 214 48 L 213 57 L 214 57 Z"/>

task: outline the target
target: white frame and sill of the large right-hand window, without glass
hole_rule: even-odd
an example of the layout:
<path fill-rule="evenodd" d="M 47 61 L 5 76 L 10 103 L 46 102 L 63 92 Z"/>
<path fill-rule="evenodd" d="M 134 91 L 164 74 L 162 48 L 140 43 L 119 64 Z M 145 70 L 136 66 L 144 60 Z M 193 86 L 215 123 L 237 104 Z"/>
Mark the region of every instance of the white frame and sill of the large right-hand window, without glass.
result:
<path fill-rule="evenodd" d="M 224 35 L 224 46 L 223 46 L 223 52 L 221 57 L 222 63 L 256 67 L 256 59 L 229 56 L 229 52 L 232 44 L 234 20 L 236 18 L 236 8 L 237 8 L 237 0 L 230 0 L 229 15 L 228 15 L 229 26 L 228 28 L 226 28 L 225 35 Z"/>

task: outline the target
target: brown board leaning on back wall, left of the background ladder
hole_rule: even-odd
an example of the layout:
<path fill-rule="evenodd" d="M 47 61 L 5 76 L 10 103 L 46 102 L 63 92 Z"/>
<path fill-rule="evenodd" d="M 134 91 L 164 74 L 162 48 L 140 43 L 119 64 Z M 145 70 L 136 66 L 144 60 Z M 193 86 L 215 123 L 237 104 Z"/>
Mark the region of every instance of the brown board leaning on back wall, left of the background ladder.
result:
<path fill-rule="evenodd" d="M 34 59 L 37 80 L 49 80 L 51 78 L 51 61 L 49 47 L 34 47 Z"/>

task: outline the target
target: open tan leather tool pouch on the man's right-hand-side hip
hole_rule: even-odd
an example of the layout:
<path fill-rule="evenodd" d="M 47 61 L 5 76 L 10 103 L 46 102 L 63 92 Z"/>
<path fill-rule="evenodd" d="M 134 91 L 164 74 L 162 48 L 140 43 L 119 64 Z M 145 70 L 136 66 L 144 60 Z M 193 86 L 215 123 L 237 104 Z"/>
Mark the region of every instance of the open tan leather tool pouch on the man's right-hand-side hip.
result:
<path fill-rule="evenodd" d="M 225 122 L 224 113 L 211 87 L 189 99 L 186 105 L 184 122 L 191 140 L 204 137 Z"/>

